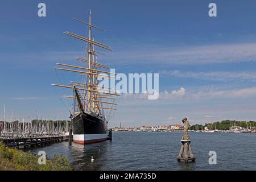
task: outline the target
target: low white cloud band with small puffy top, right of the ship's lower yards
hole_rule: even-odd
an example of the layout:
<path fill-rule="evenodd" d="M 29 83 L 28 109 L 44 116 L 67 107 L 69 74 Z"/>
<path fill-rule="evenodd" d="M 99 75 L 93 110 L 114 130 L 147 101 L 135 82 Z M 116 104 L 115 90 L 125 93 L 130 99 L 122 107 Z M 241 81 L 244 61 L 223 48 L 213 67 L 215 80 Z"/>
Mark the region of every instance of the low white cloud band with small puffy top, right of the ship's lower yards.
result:
<path fill-rule="evenodd" d="M 185 88 L 181 87 L 171 92 L 161 92 L 157 100 L 151 101 L 147 99 L 147 94 L 124 94 L 119 98 L 121 106 L 129 107 L 161 107 L 168 104 L 183 104 L 186 102 L 207 102 L 206 100 L 223 100 L 226 99 L 228 102 L 231 100 L 239 100 L 244 98 L 256 97 L 256 87 L 252 88 L 232 88 L 228 86 L 209 86 L 201 87 L 198 89 L 189 88 L 188 92 Z"/>

